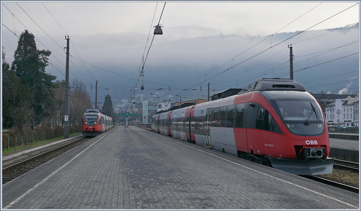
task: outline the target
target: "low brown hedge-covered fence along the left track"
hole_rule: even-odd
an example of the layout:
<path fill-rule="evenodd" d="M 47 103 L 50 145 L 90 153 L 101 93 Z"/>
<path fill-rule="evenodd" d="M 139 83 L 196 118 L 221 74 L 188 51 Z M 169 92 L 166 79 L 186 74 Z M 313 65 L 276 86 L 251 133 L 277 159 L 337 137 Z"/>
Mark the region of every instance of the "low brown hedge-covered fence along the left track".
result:
<path fill-rule="evenodd" d="M 82 131 L 82 126 L 69 126 L 69 134 Z M 22 133 L 16 130 L 8 130 L 3 133 L 3 149 L 9 147 L 17 147 L 22 145 L 28 145 L 30 143 L 52 139 L 64 135 L 64 129 L 60 125 L 56 125 L 53 128 L 48 126 L 38 126 L 34 130 L 24 128 Z"/>

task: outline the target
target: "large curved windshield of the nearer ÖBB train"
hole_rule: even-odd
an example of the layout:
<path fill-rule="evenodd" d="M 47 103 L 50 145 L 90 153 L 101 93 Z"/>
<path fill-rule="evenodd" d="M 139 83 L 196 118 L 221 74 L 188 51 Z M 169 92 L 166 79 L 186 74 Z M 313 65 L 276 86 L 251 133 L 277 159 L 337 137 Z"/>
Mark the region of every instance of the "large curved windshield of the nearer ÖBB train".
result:
<path fill-rule="evenodd" d="M 325 130 L 323 113 L 317 101 L 304 91 L 262 92 L 287 129 L 295 135 L 321 135 Z"/>

